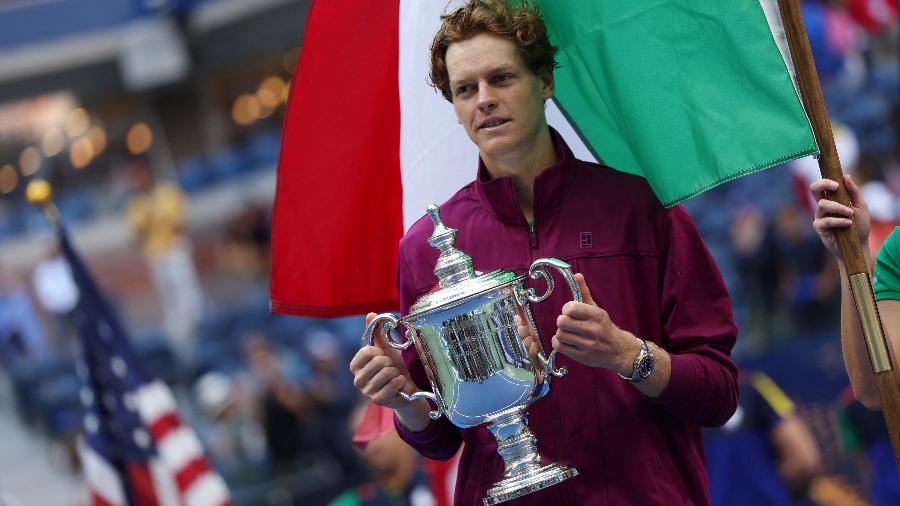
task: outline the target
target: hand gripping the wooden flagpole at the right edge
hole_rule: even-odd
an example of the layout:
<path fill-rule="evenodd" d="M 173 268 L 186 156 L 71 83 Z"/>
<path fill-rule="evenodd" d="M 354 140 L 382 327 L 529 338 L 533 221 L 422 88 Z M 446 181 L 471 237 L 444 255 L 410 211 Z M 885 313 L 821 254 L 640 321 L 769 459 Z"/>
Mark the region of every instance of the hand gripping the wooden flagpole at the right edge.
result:
<path fill-rule="evenodd" d="M 856 218 L 856 228 L 859 231 L 859 242 L 867 247 L 869 240 L 869 206 L 863 200 L 862 192 L 853 179 L 844 175 L 844 184 L 850 195 L 850 205 L 847 207 L 828 199 L 826 192 L 837 191 L 838 183 L 830 179 L 820 179 L 809 185 L 809 191 L 816 200 L 816 217 L 813 221 L 813 229 L 819 234 L 819 238 L 828 251 L 838 260 L 843 260 L 840 249 L 837 246 L 834 230 L 850 226 L 851 218 Z"/>

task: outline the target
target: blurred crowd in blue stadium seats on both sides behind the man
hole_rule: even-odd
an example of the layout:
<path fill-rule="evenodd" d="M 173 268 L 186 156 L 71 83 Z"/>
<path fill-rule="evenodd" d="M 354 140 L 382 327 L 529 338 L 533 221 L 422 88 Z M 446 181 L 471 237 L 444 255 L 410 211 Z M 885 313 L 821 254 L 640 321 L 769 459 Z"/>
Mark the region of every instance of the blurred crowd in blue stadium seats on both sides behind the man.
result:
<path fill-rule="evenodd" d="M 900 224 L 896 3 L 805 1 L 803 13 L 844 171 L 871 206 L 875 250 Z M 398 439 L 385 438 L 365 452 L 350 443 L 362 411 L 347 363 L 358 349 L 362 318 L 269 313 L 270 206 L 246 203 L 213 231 L 189 226 L 197 202 L 272 176 L 280 111 L 208 154 L 178 158 L 173 170 L 148 153 L 117 156 L 105 178 L 70 185 L 59 202 L 64 217 L 76 223 L 102 217 L 100 206 L 85 207 L 71 195 L 89 193 L 94 203 L 98 194 L 117 195 L 103 200 L 113 204 L 99 214 L 127 217 L 132 250 L 147 273 L 135 279 L 155 293 L 153 301 L 140 303 L 156 310 L 147 317 L 129 309 L 131 292 L 121 285 L 130 281 L 120 280 L 109 295 L 129 320 L 144 362 L 172 385 L 236 504 L 433 504 L 424 468 Z M 755 414 L 709 434 L 716 449 L 711 459 L 728 469 L 722 459 L 746 463 L 747 445 L 756 445 L 753 455 L 770 465 L 760 472 L 787 484 L 790 501 L 850 504 L 829 501 L 871 497 L 897 504 L 890 502 L 900 501 L 890 495 L 897 493 L 897 477 L 882 472 L 890 456 L 880 419 L 873 422 L 845 391 L 838 271 L 810 226 L 808 184 L 817 170 L 815 160 L 793 162 L 686 204 L 734 300 L 741 328 L 736 361 L 748 371 L 764 371 L 788 399 L 786 404 L 771 389 L 762 392 L 765 380 L 743 386 L 749 393 L 739 412 Z M 21 202 L 21 190 L 12 195 L 19 200 L 2 202 L 0 240 L 43 227 L 37 225 L 43 217 Z M 57 441 L 77 472 L 71 454 L 81 420 L 71 322 L 77 287 L 52 240 L 41 250 L 29 272 L 0 272 L 0 363 L 11 378 L 20 419 Z M 229 296 L 216 295 L 222 291 Z M 804 445 L 788 453 L 812 455 L 796 464 L 800 471 L 784 464 L 778 442 L 785 430 L 795 434 L 789 441 Z M 720 446 L 723 438 L 748 433 L 756 442 L 738 443 L 744 445 L 740 452 Z M 843 478 L 821 481 L 825 476 Z M 713 477 L 713 490 L 725 494 L 747 480 L 746 474 L 723 472 Z"/>

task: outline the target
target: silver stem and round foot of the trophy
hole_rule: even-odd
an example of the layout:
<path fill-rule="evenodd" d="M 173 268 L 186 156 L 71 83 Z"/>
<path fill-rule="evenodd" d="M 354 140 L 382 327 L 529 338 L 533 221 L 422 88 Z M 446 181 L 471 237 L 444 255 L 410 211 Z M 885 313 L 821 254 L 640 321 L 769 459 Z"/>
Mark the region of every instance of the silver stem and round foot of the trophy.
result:
<path fill-rule="evenodd" d="M 485 506 L 499 504 L 537 492 L 573 476 L 578 470 L 559 464 L 541 466 L 537 439 L 528 428 L 527 406 L 519 406 L 495 416 L 488 430 L 497 438 L 497 452 L 505 466 L 503 478 L 487 491 Z"/>

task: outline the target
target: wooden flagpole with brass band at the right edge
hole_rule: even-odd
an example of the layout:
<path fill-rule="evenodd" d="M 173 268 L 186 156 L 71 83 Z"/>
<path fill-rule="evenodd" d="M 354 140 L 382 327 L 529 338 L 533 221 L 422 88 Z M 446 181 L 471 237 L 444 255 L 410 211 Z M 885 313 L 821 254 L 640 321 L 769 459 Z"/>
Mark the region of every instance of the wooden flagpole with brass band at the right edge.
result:
<path fill-rule="evenodd" d="M 822 177 L 837 181 L 840 185 L 832 196 L 833 200 L 850 206 L 850 196 L 844 186 L 841 162 L 834 145 L 834 136 L 828 121 L 828 112 L 825 110 L 819 75 L 816 72 L 809 40 L 806 37 L 806 27 L 803 24 L 799 0 L 778 0 L 778 7 L 787 34 L 791 58 L 794 60 L 797 70 L 800 98 L 806 114 L 809 116 L 816 144 L 819 147 L 819 170 L 822 172 Z M 894 458 L 900 468 L 900 388 L 898 388 L 894 372 L 895 357 L 885 339 L 881 318 L 878 316 L 878 309 L 875 306 L 869 269 L 866 266 L 862 249 L 859 247 L 856 222 L 854 221 L 850 228 L 835 230 L 835 237 L 841 255 L 844 257 L 856 311 L 859 314 L 866 348 L 869 351 L 869 360 L 872 363 L 872 371 L 875 373 L 875 385 L 878 388 L 878 395 L 881 397 L 884 421 L 887 425 L 891 446 L 894 449 Z"/>

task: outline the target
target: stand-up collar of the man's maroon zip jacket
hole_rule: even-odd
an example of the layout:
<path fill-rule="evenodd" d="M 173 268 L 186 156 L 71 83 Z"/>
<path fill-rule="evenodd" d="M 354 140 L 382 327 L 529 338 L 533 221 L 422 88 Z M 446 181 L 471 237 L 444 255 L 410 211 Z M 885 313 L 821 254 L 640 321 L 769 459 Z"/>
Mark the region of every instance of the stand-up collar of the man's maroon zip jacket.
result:
<path fill-rule="evenodd" d="M 555 213 L 565 200 L 575 179 L 575 165 L 578 160 L 559 133 L 550 127 L 553 146 L 556 149 L 556 163 L 544 169 L 534 180 L 534 220 L 536 223 Z M 516 188 L 512 178 L 491 179 L 478 158 L 478 178 L 475 181 L 478 194 L 497 218 L 508 224 L 524 224 L 525 216 L 519 208 Z"/>

